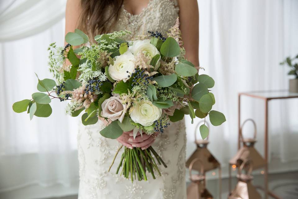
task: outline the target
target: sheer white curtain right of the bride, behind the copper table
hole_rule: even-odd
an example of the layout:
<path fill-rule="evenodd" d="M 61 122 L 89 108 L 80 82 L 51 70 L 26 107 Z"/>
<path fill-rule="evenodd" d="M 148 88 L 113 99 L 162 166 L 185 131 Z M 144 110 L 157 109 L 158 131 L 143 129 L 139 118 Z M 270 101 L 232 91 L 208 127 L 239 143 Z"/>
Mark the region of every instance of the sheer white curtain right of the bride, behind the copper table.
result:
<path fill-rule="evenodd" d="M 289 69 L 279 62 L 298 54 L 298 1 L 198 0 L 198 4 L 199 56 L 205 68 L 200 72 L 214 78 L 214 109 L 223 112 L 227 119 L 222 126 L 211 127 L 208 147 L 226 166 L 237 152 L 238 93 L 288 89 Z M 264 155 L 264 101 L 243 97 L 241 108 L 241 123 L 247 118 L 257 123 L 256 148 Z M 194 126 L 188 119 L 187 156 L 195 149 Z M 247 123 L 245 136 L 252 137 L 252 131 L 252 125 Z M 270 101 L 269 158 L 278 159 L 280 164 L 269 164 L 269 170 L 298 168 L 297 140 L 298 99 Z M 223 172 L 226 175 L 227 169 Z"/>

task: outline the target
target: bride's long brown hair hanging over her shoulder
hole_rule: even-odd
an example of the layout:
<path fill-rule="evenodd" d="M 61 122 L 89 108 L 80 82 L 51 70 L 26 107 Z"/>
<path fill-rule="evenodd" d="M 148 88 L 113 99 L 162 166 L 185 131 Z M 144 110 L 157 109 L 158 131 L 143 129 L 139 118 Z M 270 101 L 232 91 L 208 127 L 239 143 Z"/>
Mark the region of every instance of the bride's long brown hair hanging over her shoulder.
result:
<path fill-rule="evenodd" d="M 81 0 L 78 28 L 94 41 L 94 36 L 107 33 L 118 20 L 124 0 Z M 111 25 L 107 23 L 111 21 Z"/>

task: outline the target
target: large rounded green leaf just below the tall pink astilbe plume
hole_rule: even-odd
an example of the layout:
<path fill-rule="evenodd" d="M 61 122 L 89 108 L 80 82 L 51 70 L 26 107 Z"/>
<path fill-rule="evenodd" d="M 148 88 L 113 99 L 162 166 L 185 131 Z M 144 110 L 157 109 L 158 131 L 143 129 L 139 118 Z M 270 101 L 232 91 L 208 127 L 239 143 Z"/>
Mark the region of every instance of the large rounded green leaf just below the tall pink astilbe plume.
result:
<path fill-rule="evenodd" d="M 180 53 L 180 47 L 173 37 L 168 37 L 160 47 L 160 53 L 165 57 L 176 57 Z"/>

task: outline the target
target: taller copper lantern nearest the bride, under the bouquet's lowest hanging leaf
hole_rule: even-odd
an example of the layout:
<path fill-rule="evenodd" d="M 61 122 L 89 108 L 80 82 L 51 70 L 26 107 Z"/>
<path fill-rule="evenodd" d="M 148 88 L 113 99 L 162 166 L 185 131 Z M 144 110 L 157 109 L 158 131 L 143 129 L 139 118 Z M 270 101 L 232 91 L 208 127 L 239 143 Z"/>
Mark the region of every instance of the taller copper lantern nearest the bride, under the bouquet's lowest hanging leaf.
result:
<path fill-rule="evenodd" d="M 220 168 L 219 162 L 214 158 L 214 156 L 207 149 L 207 145 L 209 143 L 209 141 L 208 141 L 209 136 L 205 140 L 198 140 L 196 138 L 196 132 L 197 132 L 201 123 L 204 123 L 204 121 L 199 122 L 195 128 L 195 143 L 196 143 L 197 148 L 193 152 L 193 154 L 190 156 L 190 158 L 186 161 L 186 167 L 189 167 L 189 169 L 193 169 L 196 171 L 201 171 L 201 169 L 203 168 L 203 171 L 201 171 L 201 173 L 203 174 L 203 177 L 204 177 L 204 186 L 205 187 L 206 187 L 205 173 L 212 169 L 219 169 L 219 199 L 220 199 L 221 198 L 221 168 Z M 205 124 L 209 128 L 209 124 L 207 122 L 205 122 Z M 192 168 L 190 168 L 191 163 L 197 159 L 199 159 L 201 161 L 201 164 L 192 164 Z M 215 172 L 214 172 L 214 175 L 215 175 Z M 197 197 L 197 194 L 198 194 L 197 187 L 198 187 L 198 185 L 195 183 L 191 183 L 187 187 L 187 198 L 188 199 L 193 199 L 193 198 L 197 199 L 198 198 Z M 207 196 L 210 195 L 210 193 L 206 189 L 205 189 L 205 192 L 202 192 L 202 193 L 204 193 L 202 195 L 202 197 L 204 196 L 203 198 L 208 198 Z"/>

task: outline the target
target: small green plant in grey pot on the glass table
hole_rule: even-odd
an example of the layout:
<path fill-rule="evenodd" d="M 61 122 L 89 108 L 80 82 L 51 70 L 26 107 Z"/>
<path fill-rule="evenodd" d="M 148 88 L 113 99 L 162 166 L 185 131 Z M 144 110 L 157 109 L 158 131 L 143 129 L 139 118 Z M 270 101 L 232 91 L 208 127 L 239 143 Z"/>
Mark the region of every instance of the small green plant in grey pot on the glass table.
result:
<path fill-rule="evenodd" d="M 294 75 L 295 79 L 289 80 L 289 91 L 293 93 L 298 93 L 298 54 L 296 57 L 291 58 L 287 57 L 280 65 L 287 64 L 291 70 L 288 72 L 288 75 Z"/>

